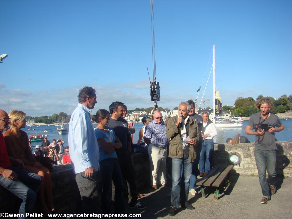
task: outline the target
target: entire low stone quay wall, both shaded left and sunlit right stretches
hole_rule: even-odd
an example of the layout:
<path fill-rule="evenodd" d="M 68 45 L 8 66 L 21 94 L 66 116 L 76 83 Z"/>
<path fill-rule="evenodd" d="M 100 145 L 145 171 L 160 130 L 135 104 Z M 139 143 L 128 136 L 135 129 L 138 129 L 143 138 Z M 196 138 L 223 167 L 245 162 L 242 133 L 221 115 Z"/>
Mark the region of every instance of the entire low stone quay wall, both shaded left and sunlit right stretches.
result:
<path fill-rule="evenodd" d="M 292 142 L 277 142 L 277 173 L 285 177 L 292 177 Z M 230 152 L 237 152 L 241 156 L 240 166 L 234 166 L 234 170 L 243 175 L 257 175 L 256 162 L 254 159 L 254 144 L 227 143 L 215 144 L 213 154 L 213 165 L 218 163 L 227 163 Z M 134 154 L 133 162 L 136 173 L 136 183 L 138 191 L 150 186 L 150 169 L 147 154 Z M 53 202 L 58 213 L 78 213 L 81 208 L 79 190 L 75 181 L 71 164 L 54 166 L 51 173 Z M 99 191 L 101 191 L 100 178 Z M 70 204 L 68 204 L 70 202 Z M 0 187 L 0 212 L 18 213 L 20 200 Z M 38 211 L 38 205 L 33 212 Z"/>

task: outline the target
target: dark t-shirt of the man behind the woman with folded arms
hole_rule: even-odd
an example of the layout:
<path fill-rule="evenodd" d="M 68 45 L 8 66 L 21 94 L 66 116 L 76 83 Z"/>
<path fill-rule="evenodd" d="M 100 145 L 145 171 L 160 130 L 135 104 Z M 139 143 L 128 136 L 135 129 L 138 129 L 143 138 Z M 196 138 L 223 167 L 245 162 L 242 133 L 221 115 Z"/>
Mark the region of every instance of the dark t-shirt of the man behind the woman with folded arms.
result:
<path fill-rule="evenodd" d="M 114 130 L 114 133 L 122 143 L 122 147 L 120 149 L 116 149 L 118 157 L 128 154 L 128 141 L 131 140 L 131 134 L 128 130 L 128 122 L 122 118 L 118 120 L 110 118 L 109 127 Z"/>

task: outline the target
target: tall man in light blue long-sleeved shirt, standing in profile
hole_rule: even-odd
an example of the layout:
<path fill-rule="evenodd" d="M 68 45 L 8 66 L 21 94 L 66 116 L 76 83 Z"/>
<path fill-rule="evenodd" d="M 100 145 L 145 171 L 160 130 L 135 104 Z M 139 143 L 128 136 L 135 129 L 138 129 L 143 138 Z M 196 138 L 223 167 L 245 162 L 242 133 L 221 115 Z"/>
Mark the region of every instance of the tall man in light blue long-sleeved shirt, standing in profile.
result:
<path fill-rule="evenodd" d="M 70 158 L 81 195 L 83 213 L 98 213 L 96 171 L 99 149 L 89 113 L 97 103 L 95 89 L 81 89 L 78 101 L 69 123 Z"/>

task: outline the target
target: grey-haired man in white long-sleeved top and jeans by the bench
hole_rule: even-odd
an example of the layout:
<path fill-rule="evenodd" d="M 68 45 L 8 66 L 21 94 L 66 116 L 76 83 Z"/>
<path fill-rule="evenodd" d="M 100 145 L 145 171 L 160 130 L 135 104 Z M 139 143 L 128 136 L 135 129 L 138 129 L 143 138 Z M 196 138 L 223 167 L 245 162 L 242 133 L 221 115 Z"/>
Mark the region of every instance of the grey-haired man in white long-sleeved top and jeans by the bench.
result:
<path fill-rule="evenodd" d="M 203 127 L 202 127 L 202 150 L 200 153 L 200 176 L 205 176 L 211 168 L 212 152 L 214 150 L 213 137 L 217 135 L 215 124 L 209 119 L 208 112 L 202 113 Z M 206 160 L 204 161 L 204 155 L 206 154 Z"/>

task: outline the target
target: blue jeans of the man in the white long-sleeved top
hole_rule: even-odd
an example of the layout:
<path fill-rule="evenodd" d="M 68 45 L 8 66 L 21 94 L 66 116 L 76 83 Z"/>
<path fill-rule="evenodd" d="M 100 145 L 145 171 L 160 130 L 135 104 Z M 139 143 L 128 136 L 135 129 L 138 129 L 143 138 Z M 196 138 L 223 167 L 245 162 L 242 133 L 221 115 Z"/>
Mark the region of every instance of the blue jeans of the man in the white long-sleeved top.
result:
<path fill-rule="evenodd" d="M 200 172 L 208 173 L 211 168 L 211 158 L 212 158 L 212 152 L 214 150 L 214 142 L 213 139 L 205 139 L 202 142 L 202 150 L 200 153 Z M 204 155 L 206 154 L 206 161 L 204 161 Z"/>

